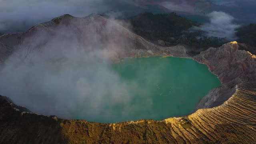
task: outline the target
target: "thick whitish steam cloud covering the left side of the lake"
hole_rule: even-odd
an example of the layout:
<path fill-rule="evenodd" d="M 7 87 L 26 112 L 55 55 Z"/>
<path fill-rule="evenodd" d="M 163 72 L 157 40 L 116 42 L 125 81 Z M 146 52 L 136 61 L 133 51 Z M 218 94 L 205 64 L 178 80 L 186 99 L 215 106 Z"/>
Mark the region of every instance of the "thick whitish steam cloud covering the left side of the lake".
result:
<path fill-rule="evenodd" d="M 111 58 L 122 47 L 110 38 L 113 24 L 107 23 L 102 32 L 88 24 L 80 31 L 84 38 L 90 36 L 84 41 L 66 26 L 56 28 L 54 36 L 37 32 L 26 38 L 0 68 L 0 94 L 34 113 L 60 118 L 70 118 L 77 108 L 83 110 L 76 115 L 90 120 L 115 116 L 102 114 L 106 105 L 127 106 L 125 115 L 131 109 L 147 108 L 148 104 L 128 105 L 136 82 L 120 80 L 110 68 Z"/>

